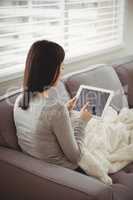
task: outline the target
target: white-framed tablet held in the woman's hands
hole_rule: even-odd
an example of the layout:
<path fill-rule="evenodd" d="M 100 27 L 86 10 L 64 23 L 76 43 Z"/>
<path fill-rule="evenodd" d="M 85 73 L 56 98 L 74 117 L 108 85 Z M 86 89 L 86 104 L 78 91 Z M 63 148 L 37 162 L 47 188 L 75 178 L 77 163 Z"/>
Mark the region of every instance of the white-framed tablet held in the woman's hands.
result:
<path fill-rule="evenodd" d="M 76 94 L 77 101 L 74 110 L 80 111 L 84 104 L 89 102 L 87 110 L 94 117 L 103 118 L 113 96 L 114 91 L 112 90 L 80 85 Z"/>

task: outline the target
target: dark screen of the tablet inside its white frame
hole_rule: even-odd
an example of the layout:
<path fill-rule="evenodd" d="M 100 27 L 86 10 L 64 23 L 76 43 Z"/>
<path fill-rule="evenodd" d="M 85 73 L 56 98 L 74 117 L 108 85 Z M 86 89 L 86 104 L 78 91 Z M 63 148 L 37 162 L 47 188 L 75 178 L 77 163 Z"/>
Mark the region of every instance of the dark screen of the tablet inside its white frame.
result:
<path fill-rule="evenodd" d="M 93 115 L 101 117 L 109 97 L 110 92 L 82 88 L 77 96 L 77 102 L 74 110 L 80 111 L 84 104 L 89 101 L 87 110 Z"/>

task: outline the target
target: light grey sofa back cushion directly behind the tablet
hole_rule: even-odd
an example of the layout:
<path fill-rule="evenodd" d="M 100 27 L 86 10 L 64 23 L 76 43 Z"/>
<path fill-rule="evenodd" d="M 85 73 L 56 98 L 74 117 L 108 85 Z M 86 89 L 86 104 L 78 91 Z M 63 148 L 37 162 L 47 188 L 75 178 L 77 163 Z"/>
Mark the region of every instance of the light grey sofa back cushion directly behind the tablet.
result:
<path fill-rule="evenodd" d="M 128 106 L 124 90 L 112 66 L 97 65 L 92 68 L 89 67 L 66 75 L 64 82 L 71 97 L 75 96 L 79 86 L 84 84 L 114 90 L 115 96 L 111 101 L 111 105 L 117 110 Z"/>

